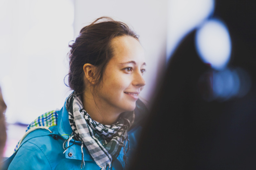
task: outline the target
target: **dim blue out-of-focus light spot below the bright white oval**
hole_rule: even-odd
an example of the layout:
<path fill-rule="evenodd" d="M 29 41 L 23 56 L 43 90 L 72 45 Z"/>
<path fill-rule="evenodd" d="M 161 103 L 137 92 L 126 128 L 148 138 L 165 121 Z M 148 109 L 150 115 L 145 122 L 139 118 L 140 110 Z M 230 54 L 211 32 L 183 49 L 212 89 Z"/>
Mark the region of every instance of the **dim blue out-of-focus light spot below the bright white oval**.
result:
<path fill-rule="evenodd" d="M 207 101 L 244 97 L 251 88 L 249 74 L 241 69 L 211 70 L 199 79 L 199 90 Z"/>

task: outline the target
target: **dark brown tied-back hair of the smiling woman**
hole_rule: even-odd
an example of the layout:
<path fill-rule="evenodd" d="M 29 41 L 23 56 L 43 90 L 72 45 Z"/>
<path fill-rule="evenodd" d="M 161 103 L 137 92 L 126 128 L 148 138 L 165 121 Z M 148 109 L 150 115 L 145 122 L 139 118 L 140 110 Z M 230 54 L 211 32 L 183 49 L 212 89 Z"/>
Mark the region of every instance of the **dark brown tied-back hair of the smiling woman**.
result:
<path fill-rule="evenodd" d="M 125 35 L 139 40 L 139 36 L 126 24 L 109 17 L 100 17 L 82 28 L 76 40 L 69 45 L 71 47 L 69 52 L 69 87 L 78 94 L 84 91 L 83 66 L 85 63 L 97 66 L 97 83 L 99 83 L 108 61 L 113 56 L 111 40 Z"/>

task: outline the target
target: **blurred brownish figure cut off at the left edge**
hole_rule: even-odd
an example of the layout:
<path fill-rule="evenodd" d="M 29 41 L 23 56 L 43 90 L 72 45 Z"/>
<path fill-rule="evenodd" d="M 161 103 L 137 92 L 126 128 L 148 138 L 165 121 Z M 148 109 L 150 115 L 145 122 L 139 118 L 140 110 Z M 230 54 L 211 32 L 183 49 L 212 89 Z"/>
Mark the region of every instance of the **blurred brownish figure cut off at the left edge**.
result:
<path fill-rule="evenodd" d="M 6 141 L 6 127 L 5 127 L 5 117 L 4 117 L 5 109 L 6 109 L 6 105 L 4 103 L 2 91 L 0 88 L 0 162 L 2 161 L 4 145 Z"/>

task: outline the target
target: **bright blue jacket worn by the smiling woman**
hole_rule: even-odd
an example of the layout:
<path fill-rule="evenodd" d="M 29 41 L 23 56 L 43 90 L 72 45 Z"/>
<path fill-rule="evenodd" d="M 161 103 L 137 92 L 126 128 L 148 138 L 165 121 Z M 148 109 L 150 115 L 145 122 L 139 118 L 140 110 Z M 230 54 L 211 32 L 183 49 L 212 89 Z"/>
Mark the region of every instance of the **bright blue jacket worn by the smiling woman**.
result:
<path fill-rule="evenodd" d="M 81 169 L 82 153 L 81 142 L 72 139 L 71 144 L 74 143 L 63 154 L 63 143 L 68 139 L 67 134 L 72 133 L 68 121 L 68 111 L 65 107 L 60 111 L 55 111 L 58 114 L 57 125 L 47 129 L 36 129 L 24 138 L 19 149 L 4 162 L 3 169 L 17 170 L 17 169 Z M 138 100 L 136 102 L 135 115 L 142 120 L 146 113 L 145 105 Z M 135 119 L 136 119 L 135 117 Z M 141 124 L 141 123 L 140 123 Z M 140 124 L 133 125 L 129 130 L 130 149 L 127 152 L 127 163 L 132 157 L 137 145 L 137 139 L 140 136 Z M 69 144 L 69 145 L 71 145 Z M 90 156 L 86 147 L 83 147 L 85 170 L 100 169 Z M 113 163 L 113 170 L 124 169 L 123 167 L 123 150 Z"/>

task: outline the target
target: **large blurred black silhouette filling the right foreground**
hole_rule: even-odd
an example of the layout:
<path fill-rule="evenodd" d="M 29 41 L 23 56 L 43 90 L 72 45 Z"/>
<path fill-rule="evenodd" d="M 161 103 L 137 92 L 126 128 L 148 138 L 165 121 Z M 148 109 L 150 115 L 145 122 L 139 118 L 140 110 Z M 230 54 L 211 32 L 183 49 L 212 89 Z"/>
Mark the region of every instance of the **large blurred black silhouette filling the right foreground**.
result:
<path fill-rule="evenodd" d="M 184 38 L 158 86 L 131 170 L 256 169 L 256 2 L 215 1 L 213 17 L 228 26 L 230 65 L 247 71 L 251 89 L 242 98 L 204 100 L 211 73 Z M 203 92 L 203 94 L 202 94 Z"/>

